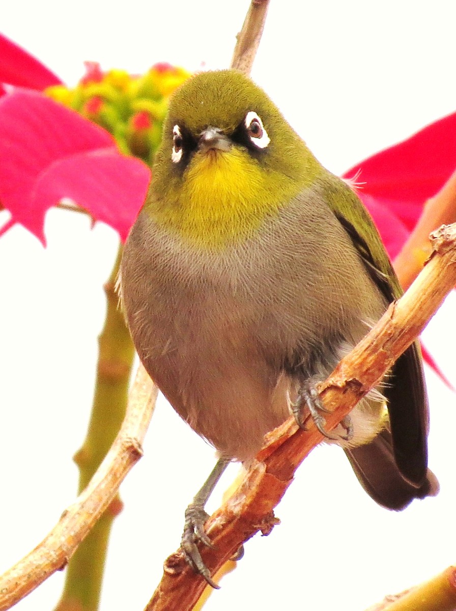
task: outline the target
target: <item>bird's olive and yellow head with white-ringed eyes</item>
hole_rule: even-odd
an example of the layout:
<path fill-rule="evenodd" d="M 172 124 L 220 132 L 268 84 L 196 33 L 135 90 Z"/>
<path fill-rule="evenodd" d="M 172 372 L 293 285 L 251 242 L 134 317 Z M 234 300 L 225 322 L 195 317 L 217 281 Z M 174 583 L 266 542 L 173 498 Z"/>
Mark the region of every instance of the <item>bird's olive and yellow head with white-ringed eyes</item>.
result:
<path fill-rule="evenodd" d="M 252 233 L 319 172 L 250 78 L 199 73 L 170 100 L 147 207 L 190 241 L 223 244 Z"/>

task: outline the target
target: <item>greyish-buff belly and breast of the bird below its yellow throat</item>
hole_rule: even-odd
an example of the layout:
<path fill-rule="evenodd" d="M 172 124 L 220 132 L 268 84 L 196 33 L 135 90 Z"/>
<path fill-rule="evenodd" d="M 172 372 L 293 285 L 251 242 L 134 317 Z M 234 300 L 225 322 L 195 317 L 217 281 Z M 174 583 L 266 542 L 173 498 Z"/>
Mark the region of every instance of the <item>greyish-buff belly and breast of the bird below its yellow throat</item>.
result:
<path fill-rule="evenodd" d="M 222 455 L 255 455 L 288 416 L 296 379 L 329 373 L 385 309 L 348 236 L 323 216 L 297 201 L 210 253 L 142 213 L 126 244 L 123 304 L 139 356 Z"/>

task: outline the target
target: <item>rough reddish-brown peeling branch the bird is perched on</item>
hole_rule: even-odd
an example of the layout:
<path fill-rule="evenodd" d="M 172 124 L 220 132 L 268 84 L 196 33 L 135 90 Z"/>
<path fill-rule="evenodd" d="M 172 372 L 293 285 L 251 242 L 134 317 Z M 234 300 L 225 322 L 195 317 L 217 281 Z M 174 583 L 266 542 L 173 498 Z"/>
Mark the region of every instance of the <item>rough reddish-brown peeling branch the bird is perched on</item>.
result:
<path fill-rule="evenodd" d="M 334 428 L 424 329 L 456 282 L 456 224 L 432 235 L 433 255 L 410 289 L 386 311 L 371 332 L 320 385 L 327 427 Z M 290 485 L 306 455 L 322 441 L 313 423 L 299 430 L 293 418 L 266 437 L 266 445 L 239 489 L 206 522 L 214 548 L 201 556 L 214 574 L 256 532 L 267 534 L 275 524 L 273 509 Z M 145 611 L 189 611 L 206 586 L 183 560 L 172 554 L 164 576 Z"/>

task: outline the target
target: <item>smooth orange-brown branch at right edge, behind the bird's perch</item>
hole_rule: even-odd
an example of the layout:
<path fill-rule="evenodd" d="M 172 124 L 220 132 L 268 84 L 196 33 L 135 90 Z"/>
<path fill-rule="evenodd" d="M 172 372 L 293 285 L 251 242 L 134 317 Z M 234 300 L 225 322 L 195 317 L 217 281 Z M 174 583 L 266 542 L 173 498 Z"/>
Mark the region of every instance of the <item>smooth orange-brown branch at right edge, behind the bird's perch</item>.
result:
<path fill-rule="evenodd" d="M 410 287 L 429 257 L 431 247 L 428 236 L 443 224 L 456 222 L 456 171 L 440 191 L 427 200 L 418 223 L 394 261 L 402 287 Z"/>

